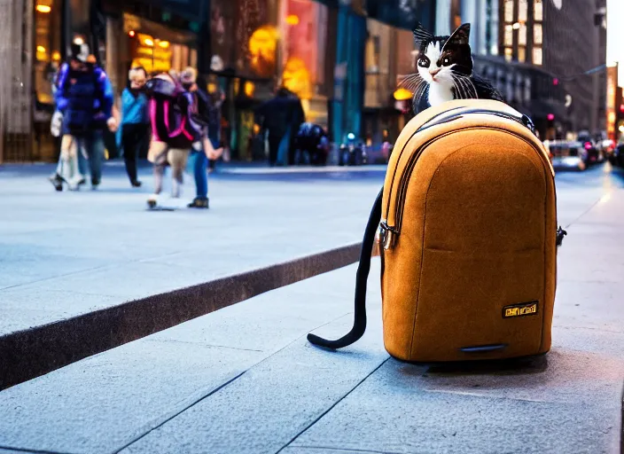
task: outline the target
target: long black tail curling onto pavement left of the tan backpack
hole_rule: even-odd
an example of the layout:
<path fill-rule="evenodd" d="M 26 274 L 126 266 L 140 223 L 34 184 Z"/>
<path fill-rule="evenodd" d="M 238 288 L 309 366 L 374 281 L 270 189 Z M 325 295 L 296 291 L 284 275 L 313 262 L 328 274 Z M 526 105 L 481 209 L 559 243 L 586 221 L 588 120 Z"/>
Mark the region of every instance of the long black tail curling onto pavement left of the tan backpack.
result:
<path fill-rule="evenodd" d="M 360 264 L 355 275 L 355 320 L 353 328 L 338 340 L 327 340 L 310 333 L 308 334 L 308 341 L 314 345 L 324 348 L 347 347 L 347 345 L 351 345 L 356 340 L 359 340 L 366 330 L 366 281 L 369 277 L 370 256 L 372 255 L 372 247 L 375 242 L 375 233 L 381 220 L 381 200 L 383 194 L 384 188 L 381 188 L 370 211 L 366 231 L 364 231 L 362 249 L 360 250 Z"/>

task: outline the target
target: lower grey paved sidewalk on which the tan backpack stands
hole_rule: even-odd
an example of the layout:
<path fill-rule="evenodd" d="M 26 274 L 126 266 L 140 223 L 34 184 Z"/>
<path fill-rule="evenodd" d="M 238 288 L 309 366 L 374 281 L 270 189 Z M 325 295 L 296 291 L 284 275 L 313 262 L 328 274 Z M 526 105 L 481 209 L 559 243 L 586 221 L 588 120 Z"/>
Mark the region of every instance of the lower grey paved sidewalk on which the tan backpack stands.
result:
<path fill-rule="evenodd" d="M 624 191 L 574 181 L 559 186 L 571 225 L 547 356 L 464 369 L 389 358 L 375 260 L 353 346 L 305 340 L 351 325 L 350 266 L 0 392 L 0 452 L 620 452 Z"/>

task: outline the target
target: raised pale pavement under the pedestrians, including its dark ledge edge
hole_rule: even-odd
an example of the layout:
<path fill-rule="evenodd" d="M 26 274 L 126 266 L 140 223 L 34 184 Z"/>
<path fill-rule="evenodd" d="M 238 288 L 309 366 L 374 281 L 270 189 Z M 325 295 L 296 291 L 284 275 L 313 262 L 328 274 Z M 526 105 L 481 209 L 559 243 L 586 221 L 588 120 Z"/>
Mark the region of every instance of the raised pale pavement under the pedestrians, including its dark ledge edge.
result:
<path fill-rule="evenodd" d="M 0 168 L 0 389 L 355 262 L 383 168 L 228 169 L 210 180 L 210 210 L 185 207 L 187 176 L 172 213 L 145 209 L 150 168 L 138 191 L 113 163 L 97 192 L 62 193 L 51 166 Z"/>

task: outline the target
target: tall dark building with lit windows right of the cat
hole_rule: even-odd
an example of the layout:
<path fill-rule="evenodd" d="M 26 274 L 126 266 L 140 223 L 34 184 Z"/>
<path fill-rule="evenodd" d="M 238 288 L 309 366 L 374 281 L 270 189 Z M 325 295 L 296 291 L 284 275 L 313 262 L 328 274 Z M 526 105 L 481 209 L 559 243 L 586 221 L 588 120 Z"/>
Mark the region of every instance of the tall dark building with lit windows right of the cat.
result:
<path fill-rule="evenodd" d="M 554 138 L 606 129 L 604 18 L 605 0 L 439 0 L 436 32 L 470 22 L 475 71 Z"/>

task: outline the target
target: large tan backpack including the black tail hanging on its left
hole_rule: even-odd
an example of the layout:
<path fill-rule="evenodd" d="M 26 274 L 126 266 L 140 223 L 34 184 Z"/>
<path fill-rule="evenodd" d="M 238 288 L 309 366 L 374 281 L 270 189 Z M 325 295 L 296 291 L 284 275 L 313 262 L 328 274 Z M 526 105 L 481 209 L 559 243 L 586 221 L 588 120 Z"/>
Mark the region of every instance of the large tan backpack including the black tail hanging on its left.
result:
<path fill-rule="evenodd" d="M 533 356 L 550 349 L 557 247 L 554 171 L 526 115 L 462 99 L 409 121 L 372 208 L 355 285 L 366 328 L 366 280 L 379 228 L 384 344 L 409 362 Z"/>

